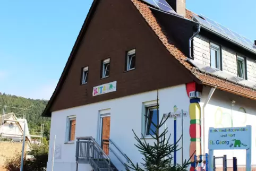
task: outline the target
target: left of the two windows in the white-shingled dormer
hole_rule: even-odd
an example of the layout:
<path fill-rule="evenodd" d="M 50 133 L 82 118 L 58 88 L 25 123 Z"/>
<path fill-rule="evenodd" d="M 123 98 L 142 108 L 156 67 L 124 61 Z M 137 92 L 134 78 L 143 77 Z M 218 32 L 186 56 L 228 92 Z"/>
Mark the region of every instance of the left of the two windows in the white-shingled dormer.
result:
<path fill-rule="evenodd" d="M 211 67 L 221 70 L 221 58 L 220 58 L 220 47 L 213 43 L 210 44 L 211 48 Z"/>

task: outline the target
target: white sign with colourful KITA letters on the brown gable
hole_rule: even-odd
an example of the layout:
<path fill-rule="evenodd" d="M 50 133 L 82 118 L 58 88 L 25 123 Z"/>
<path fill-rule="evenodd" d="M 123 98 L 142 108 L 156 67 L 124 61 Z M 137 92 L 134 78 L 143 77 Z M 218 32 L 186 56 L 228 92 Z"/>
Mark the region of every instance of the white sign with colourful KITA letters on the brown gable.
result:
<path fill-rule="evenodd" d="M 103 95 L 113 91 L 116 91 L 116 81 L 93 87 L 92 96 Z"/>

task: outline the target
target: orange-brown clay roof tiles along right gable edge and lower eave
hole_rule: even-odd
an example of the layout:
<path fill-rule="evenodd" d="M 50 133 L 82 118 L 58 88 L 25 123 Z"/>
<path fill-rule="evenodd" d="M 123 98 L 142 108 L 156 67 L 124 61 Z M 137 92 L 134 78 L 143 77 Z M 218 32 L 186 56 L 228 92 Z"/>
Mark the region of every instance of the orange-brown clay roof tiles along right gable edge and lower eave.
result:
<path fill-rule="evenodd" d="M 137 7 L 143 18 L 147 21 L 151 29 L 156 33 L 158 38 L 163 42 L 163 45 L 167 48 L 167 50 L 172 54 L 181 64 L 183 64 L 188 70 L 191 70 L 202 84 L 210 87 L 217 87 L 217 89 L 234 93 L 238 96 L 243 96 L 246 98 L 250 98 L 256 100 L 256 90 L 253 90 L 249 87 L 245 87 L 242 85 L 238 85 L 235 82 L 231 82 L 225 79 L 218 78 L 215 75 L 195 72 L 195 67 L 186 62 L 186 56 L 178 49 L 174 44 L 170 44 L 168 41 L 168 35 L 163 32 L 161 25 L 153 15 L 152 11 L 148 7 L 147 4 L 139 1 L 139 0 L 131 0 L 134 5 Z M 186 10 L 186 18 L 191 19 L 193 12 Z"/>

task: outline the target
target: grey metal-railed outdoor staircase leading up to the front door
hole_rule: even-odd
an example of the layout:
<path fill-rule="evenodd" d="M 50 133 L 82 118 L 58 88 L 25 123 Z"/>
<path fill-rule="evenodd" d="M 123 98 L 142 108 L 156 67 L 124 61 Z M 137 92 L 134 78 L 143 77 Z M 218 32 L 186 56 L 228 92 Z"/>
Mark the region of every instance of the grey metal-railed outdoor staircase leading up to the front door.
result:
<path fill-rule="evenodd" d="M 94 171 L 118 171 L 108 155 L 91 136 L 76 138 L 75 158 L 76 170 L 78 170 L 78 164 L 90 164 Z"/>

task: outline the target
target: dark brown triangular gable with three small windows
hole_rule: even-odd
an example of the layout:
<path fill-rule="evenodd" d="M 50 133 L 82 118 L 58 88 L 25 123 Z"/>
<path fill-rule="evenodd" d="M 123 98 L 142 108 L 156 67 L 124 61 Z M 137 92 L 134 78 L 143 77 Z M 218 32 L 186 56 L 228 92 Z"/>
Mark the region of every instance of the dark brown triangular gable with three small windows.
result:
<path fill-rule="evenodd" d="M 163 46 L 130 0 L 95 1 L 88 27 L 70 58 L 43 116 L 81 106 L 194 81 L 195 77 Z M 135 70 L 125 72 L 127 50 L 136 49 Z M 101 61 L 110 58 L 110 75 L 100 79 Z M 71 62 L 72 61 L 72 62 Z M 80 85 L 89 66 L 88 83 Z M 117 81 L 117 91 L 92 97 L 92 88 Z"/>

